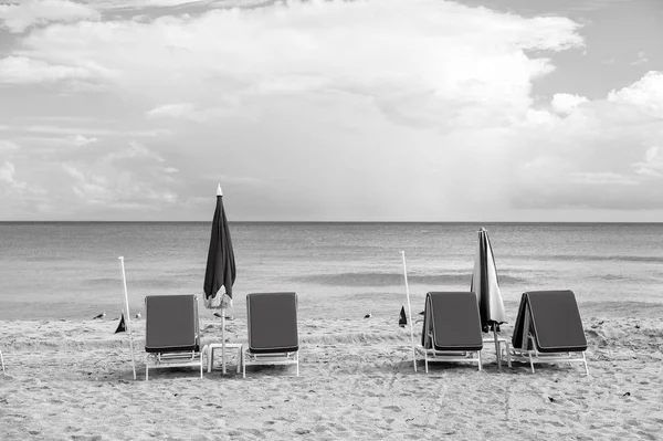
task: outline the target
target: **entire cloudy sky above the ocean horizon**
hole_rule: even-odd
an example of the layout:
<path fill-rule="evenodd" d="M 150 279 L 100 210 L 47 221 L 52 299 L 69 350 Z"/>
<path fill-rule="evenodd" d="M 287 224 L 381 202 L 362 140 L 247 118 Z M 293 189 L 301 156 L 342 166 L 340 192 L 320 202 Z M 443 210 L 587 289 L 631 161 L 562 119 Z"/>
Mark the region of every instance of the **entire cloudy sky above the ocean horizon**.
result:
<path fill-rule="evenodd" d="M 661 0 L 0 0 L 0 220 L 663 222 Z"/>

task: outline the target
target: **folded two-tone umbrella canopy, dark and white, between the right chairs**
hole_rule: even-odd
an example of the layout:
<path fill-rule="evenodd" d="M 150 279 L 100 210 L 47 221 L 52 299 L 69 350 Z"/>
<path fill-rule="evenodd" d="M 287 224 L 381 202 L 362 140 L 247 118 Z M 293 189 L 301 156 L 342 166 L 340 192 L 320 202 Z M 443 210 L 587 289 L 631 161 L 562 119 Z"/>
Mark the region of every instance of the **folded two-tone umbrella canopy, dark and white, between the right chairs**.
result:
<path fill-rule="evenodd" d="M 506 323 L 506 314 L 499 292 L 493 248 L 488 233 L 483 228 L 478 231 L 478 250 L 474 260 L 470 291 L 476 294 L 483 332 L 499 330 L 499 325 Z"/>

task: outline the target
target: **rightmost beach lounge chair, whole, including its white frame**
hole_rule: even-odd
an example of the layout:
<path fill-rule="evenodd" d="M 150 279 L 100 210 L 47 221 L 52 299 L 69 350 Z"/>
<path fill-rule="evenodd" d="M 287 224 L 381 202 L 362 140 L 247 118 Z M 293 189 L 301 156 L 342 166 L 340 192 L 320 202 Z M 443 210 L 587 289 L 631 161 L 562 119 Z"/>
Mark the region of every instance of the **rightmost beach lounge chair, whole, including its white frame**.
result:
<path fill-rule="evenodd" d="M 587 339 L 572 291 L 532 291 L 520 297 L 512 338 L 512 360 L 582 363 L 589 375 Z"/>

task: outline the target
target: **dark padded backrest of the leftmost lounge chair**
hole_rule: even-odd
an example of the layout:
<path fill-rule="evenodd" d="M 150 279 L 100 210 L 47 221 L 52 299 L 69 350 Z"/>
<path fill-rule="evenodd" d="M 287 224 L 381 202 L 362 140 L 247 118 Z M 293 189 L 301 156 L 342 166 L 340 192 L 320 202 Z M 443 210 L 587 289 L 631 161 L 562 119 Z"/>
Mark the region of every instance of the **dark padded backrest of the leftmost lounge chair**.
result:
<path fill-rule="evenodd" d="M 148 295 L 145 314 L 146 351 L 200 350 L 196 295 Z"/>

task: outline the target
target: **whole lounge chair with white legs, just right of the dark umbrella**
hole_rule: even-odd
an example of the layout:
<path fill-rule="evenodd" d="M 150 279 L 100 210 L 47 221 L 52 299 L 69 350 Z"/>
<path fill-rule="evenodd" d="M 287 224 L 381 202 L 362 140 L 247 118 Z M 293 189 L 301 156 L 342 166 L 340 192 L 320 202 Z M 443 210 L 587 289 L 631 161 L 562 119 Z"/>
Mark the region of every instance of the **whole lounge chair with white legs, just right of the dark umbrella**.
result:
<path fill-rule="evenodd" d="M 246 319 L 249 345 L 242 351 L 242 376 L 246 377 L 246 366 L 296 365 L 298 377 L 297 294 L 248 294 Z"/>

